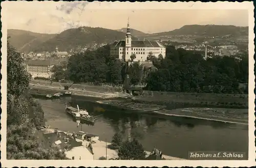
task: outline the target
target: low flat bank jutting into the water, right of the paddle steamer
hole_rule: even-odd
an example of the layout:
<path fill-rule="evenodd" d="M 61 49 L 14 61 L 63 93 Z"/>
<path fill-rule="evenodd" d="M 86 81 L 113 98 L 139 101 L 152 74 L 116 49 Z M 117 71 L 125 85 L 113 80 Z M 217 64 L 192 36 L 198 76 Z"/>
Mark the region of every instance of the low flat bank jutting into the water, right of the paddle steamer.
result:
<path fill-rule="evenodd" d="M 106 106 L 114 106 L 119 109 L 137 110 L 141 113 L 147 114 L 186 117 L 248 125 L 248 109 L 205 107 L 166 109 L 166 106 L 163 105 L 144 104 L 133 101 L 127 102 L 124 100 L 101 100 L 97 101 L 97 103 Z"/>

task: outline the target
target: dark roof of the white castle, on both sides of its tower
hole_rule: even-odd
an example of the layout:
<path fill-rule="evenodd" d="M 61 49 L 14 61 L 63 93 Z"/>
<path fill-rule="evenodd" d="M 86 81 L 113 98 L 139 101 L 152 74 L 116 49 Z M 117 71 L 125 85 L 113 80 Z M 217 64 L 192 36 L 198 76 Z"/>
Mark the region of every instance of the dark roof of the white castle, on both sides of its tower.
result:
<path fill-rule="evenodd" d="M 125 47 L 125 41 L 115 41 L 111 47 Z M 132 47 L 164 47 L 164 45 L 157 41 L 132 40 Z"/>

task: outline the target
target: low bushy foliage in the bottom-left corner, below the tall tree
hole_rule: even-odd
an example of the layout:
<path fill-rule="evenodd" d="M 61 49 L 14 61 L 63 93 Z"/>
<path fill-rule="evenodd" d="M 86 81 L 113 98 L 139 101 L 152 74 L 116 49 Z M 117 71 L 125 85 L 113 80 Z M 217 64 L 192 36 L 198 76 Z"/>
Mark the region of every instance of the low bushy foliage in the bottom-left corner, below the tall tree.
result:
<path fill-rule="evenodd" d="M 65 153 L 39 139 L 44 138 L 40 134 L 29 124 L 9 126 L 7 159 L 65 159 Z"/>

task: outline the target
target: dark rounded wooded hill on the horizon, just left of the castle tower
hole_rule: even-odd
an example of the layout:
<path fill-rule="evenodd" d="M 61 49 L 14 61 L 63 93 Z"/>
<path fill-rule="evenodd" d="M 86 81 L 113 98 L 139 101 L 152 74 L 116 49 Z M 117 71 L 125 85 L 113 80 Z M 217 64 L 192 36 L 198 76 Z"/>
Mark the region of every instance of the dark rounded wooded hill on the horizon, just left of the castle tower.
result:
<path fill-rule="evenodd" d="M 57 36 L 33 48 L 34 51 L 53 51 L 58 46 L 60 51 L 69 51 L 93 43 L 112 43 L 123 40 L 125 33 L 101 27 L 79 27 L 61 32 Z"/>

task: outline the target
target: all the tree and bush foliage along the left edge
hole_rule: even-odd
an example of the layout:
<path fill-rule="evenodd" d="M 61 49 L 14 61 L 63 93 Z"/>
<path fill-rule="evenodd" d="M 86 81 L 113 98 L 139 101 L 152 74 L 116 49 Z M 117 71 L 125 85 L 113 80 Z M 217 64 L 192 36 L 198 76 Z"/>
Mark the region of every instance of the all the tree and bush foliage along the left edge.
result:
<path fill-rule="evenodd" d="M 20 54 L 7 43 L 7 159 L 66 159 L 35 129 L 44 111 L 29 95 L 30 75 Z"/>

